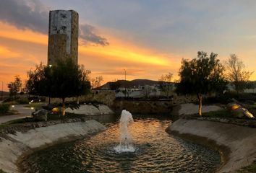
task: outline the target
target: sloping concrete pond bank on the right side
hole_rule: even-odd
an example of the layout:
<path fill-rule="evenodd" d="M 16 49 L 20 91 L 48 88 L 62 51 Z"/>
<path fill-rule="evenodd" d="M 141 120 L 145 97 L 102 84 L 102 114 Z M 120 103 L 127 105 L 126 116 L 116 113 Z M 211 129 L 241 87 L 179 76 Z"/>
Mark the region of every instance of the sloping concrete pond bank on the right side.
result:
<path fill-rule="evenodd" d="M 166 132 L 219 151 L 222 164 L 217 172 L 236 172 L 256 159 L 256 128 L 180 118 Z"/>

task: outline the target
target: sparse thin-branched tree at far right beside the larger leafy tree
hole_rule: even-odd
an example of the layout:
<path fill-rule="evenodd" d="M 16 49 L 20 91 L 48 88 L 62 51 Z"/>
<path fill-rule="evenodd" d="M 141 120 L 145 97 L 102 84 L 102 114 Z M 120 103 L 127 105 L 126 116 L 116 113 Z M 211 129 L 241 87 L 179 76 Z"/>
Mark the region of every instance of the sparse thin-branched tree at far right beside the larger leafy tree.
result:
<path fill-rule="evenodd" d="M 229 81 L 234 84 L 236 93 L 244 91 L 249 81 L 249 77 L 253 71 L 246 71 L 243 61 L 235 54 L 231 54 L 228 61 L 226 61 L 226 76 Z"/>

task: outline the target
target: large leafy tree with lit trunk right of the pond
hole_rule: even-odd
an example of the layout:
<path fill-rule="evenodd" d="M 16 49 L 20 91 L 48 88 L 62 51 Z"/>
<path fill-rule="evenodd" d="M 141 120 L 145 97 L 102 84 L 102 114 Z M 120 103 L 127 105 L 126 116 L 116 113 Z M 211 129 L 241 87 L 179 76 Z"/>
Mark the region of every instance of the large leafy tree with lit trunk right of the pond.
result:
<path fill-rule="evenodd" d="M 182 59 L 179 69 L 180 81 L 176 91 L 183 94 L 197 94 L 199 102 L 198 114 L 202 115 L 202 95 L 221 92 L 225 89 L 224 67 L 217 59 L 218 54 L 198 52 L 197 58 Z"/>

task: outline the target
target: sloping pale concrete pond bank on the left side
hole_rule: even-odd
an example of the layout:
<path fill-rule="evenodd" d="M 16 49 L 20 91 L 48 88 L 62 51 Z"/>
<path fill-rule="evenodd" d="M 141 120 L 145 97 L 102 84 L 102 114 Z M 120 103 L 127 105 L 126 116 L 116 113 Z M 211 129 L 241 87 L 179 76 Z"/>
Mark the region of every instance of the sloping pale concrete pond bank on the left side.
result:
<path fill-rule="evenodd" d="M 93 136 L 106 130 L 96 120 L 73 118 L 49 122 L 9 126 L 0 135 L 0 168 L 4 172 L 20 172 L 22 158 L 41 148 Z"/>

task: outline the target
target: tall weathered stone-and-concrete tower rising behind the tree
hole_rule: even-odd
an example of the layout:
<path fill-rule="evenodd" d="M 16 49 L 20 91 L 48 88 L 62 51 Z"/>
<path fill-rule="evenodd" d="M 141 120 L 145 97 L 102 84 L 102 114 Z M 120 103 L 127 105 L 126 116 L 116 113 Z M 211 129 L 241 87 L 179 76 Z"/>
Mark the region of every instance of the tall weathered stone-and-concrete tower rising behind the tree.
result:
<path fill-rule="evenodd" d="M 74 10 L 54 10 L 49 14 L 48 65 L 56 59 L 71 57 L 78 63 L 78 13 Z"/>

